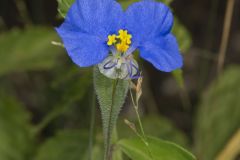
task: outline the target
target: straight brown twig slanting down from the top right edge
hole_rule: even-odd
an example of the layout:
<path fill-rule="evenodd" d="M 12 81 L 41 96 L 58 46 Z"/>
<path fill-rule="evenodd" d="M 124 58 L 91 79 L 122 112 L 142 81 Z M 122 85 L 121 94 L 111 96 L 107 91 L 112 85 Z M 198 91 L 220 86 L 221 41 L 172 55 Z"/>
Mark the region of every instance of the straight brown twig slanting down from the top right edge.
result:
<path fill-rule="evenodd" d="M 223 28 L 221 45 L 220 45 L 220 49 L 219 49 L 219 57 L 218 57 L 218 66 L 217 66 L 218 74 L 221 73 L 223 66 L 224 66 L 224 59 L 226 56 L 226 50 L 227 50 L 227 45 L 228 45 L 228 40 L 229 40 L 229 33 L 230 33 L 230 28 L 231 28 L 234 3 L 235 3 L 235 0 L 227 1 L 227 8 L 226 8 L 226 14 L 225 14 L 225 19 L 224 19 L 224 28 Z"/>

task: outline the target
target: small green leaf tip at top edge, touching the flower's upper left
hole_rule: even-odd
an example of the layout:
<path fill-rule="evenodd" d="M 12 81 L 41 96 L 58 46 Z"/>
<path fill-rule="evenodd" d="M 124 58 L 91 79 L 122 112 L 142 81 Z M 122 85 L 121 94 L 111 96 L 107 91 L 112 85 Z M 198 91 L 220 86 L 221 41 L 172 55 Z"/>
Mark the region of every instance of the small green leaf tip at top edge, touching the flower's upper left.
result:
<path fill-rule="evenodd" d="M 69 8 L 75 2 L 75 0 L 57 0 L 57 2 L 58 12 L 63 18 L 65 18 Z"/>

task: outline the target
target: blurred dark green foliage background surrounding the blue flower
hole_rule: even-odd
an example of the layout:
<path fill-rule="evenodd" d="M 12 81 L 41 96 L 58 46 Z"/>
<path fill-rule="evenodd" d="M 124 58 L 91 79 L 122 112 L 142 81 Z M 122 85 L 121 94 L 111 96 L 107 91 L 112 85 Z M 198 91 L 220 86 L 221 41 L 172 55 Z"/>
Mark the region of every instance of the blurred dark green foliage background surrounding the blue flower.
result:
<path fill-rule="evenodd" d="M 126 8 L 134 0 L 120 2 Z M 163 73 L 140 62 L 146 133 L 180 144 L 199 160 L 240 159 L 240 1 L 224 70 L 217 75 L 216 69 L 226 2 L 171 2 L 184 82 L 180 71 Z M 54 27 L 61 22 L 56 0 L 0 0 L 0 160 L 87 157 L 93 69 L 78 68 L 51 44 L 60 42 Z M 95 117 L 92 156 L 101 160 L 98 108 Z M 134 136 L 125 118 L 136 120 L 129 96 L 118 120 L 120 138 Z"/>

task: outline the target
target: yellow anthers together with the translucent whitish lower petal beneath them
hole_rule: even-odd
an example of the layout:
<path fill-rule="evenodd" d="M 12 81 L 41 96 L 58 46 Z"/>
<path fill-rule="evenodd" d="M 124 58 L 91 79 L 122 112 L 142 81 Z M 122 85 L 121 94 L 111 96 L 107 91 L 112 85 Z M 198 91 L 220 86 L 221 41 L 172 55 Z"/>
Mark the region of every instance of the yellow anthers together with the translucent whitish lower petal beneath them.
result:
<path fill-rule="evenodd" d="M 106 43 L 111 47 L 112 55 L 98 64 L 100 72 L 111 79 L 139 78 L 137 61 L 133 59 L 132 54 L 126 53 L 132 44 L 132 35 L 127 30 L 120 29 L 118 34 L 108 35 Z"/>

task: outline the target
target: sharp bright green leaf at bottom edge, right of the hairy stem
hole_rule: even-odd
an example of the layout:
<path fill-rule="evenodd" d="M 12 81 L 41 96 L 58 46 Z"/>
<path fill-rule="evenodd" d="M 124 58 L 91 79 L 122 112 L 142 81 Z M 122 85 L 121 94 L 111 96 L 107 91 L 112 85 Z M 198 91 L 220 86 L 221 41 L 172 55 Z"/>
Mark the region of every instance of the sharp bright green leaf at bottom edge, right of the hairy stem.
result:
<path fill-rule="evenodd" d="M 191 153 L 174 143 L 153 137 L 148 138 L 148 143 L 154 160 L 196 160 Z M 139 138 L 124 139 L 118 144 L 132 160 L 152 160 L 146 146 Z"/>

